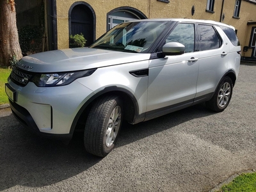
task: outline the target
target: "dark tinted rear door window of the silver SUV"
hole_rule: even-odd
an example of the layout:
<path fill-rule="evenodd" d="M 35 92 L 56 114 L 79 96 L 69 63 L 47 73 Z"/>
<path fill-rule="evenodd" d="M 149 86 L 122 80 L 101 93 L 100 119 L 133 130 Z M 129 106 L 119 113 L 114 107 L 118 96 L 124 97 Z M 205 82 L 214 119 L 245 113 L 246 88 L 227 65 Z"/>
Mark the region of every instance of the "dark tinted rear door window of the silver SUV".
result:
<path fill-rule="evenodd" d="M 200 51 L 218 49 L 221 40 L 212 26 L 199 25 Z"/>

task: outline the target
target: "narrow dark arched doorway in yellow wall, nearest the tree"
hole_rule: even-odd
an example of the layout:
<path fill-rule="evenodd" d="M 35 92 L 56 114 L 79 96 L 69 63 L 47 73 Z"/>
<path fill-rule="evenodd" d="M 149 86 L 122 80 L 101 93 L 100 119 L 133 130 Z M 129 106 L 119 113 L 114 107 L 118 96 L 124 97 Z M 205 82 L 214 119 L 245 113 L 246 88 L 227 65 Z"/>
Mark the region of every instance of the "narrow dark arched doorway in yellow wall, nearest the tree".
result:
<path fill-rule="evenodd" d="M 72 4 L 68 12 L 69 35 L 83 34 L 86 46 L 95 40 L 95 12 L 88 3 L 76 2 Z"/>

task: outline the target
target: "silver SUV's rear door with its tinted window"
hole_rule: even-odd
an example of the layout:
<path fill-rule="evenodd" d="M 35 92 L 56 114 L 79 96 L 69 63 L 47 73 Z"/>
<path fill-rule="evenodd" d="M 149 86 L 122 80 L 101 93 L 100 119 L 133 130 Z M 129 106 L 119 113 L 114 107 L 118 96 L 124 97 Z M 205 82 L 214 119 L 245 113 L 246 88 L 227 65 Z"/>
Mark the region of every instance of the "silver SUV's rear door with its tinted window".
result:
<path fill-rule="evenodd" d="M 211 96 L 221 77 L 227 72 L 229 45 L 212 25 L 198 25 L 200 65 L 196 85 L 196 99 Z"/>

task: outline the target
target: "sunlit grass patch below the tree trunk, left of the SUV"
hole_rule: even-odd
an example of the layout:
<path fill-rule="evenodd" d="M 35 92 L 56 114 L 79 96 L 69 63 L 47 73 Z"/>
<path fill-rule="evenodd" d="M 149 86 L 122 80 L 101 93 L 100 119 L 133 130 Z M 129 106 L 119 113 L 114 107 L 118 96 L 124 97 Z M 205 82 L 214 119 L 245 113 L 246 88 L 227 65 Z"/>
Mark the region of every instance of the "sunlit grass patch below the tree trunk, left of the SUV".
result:
<path fill-rule="evenodd" d="M 8 97 L 5 93 L 4 83 L 7 83 L 7 78 L 10 75 L 11 69 L 0 68 L 0 105 L 8 103 Z"/>

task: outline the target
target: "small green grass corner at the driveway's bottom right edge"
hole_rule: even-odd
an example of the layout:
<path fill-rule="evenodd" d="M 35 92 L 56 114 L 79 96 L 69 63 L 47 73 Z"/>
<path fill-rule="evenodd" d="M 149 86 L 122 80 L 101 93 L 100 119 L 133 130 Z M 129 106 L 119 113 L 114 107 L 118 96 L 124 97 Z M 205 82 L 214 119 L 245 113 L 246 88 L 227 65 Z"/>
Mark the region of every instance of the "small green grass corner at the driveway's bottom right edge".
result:
<path fill-rule="evenodd" d="M 256 173 L 244 173 L 221 187 L 218 192 L 256 192 Z"/>

